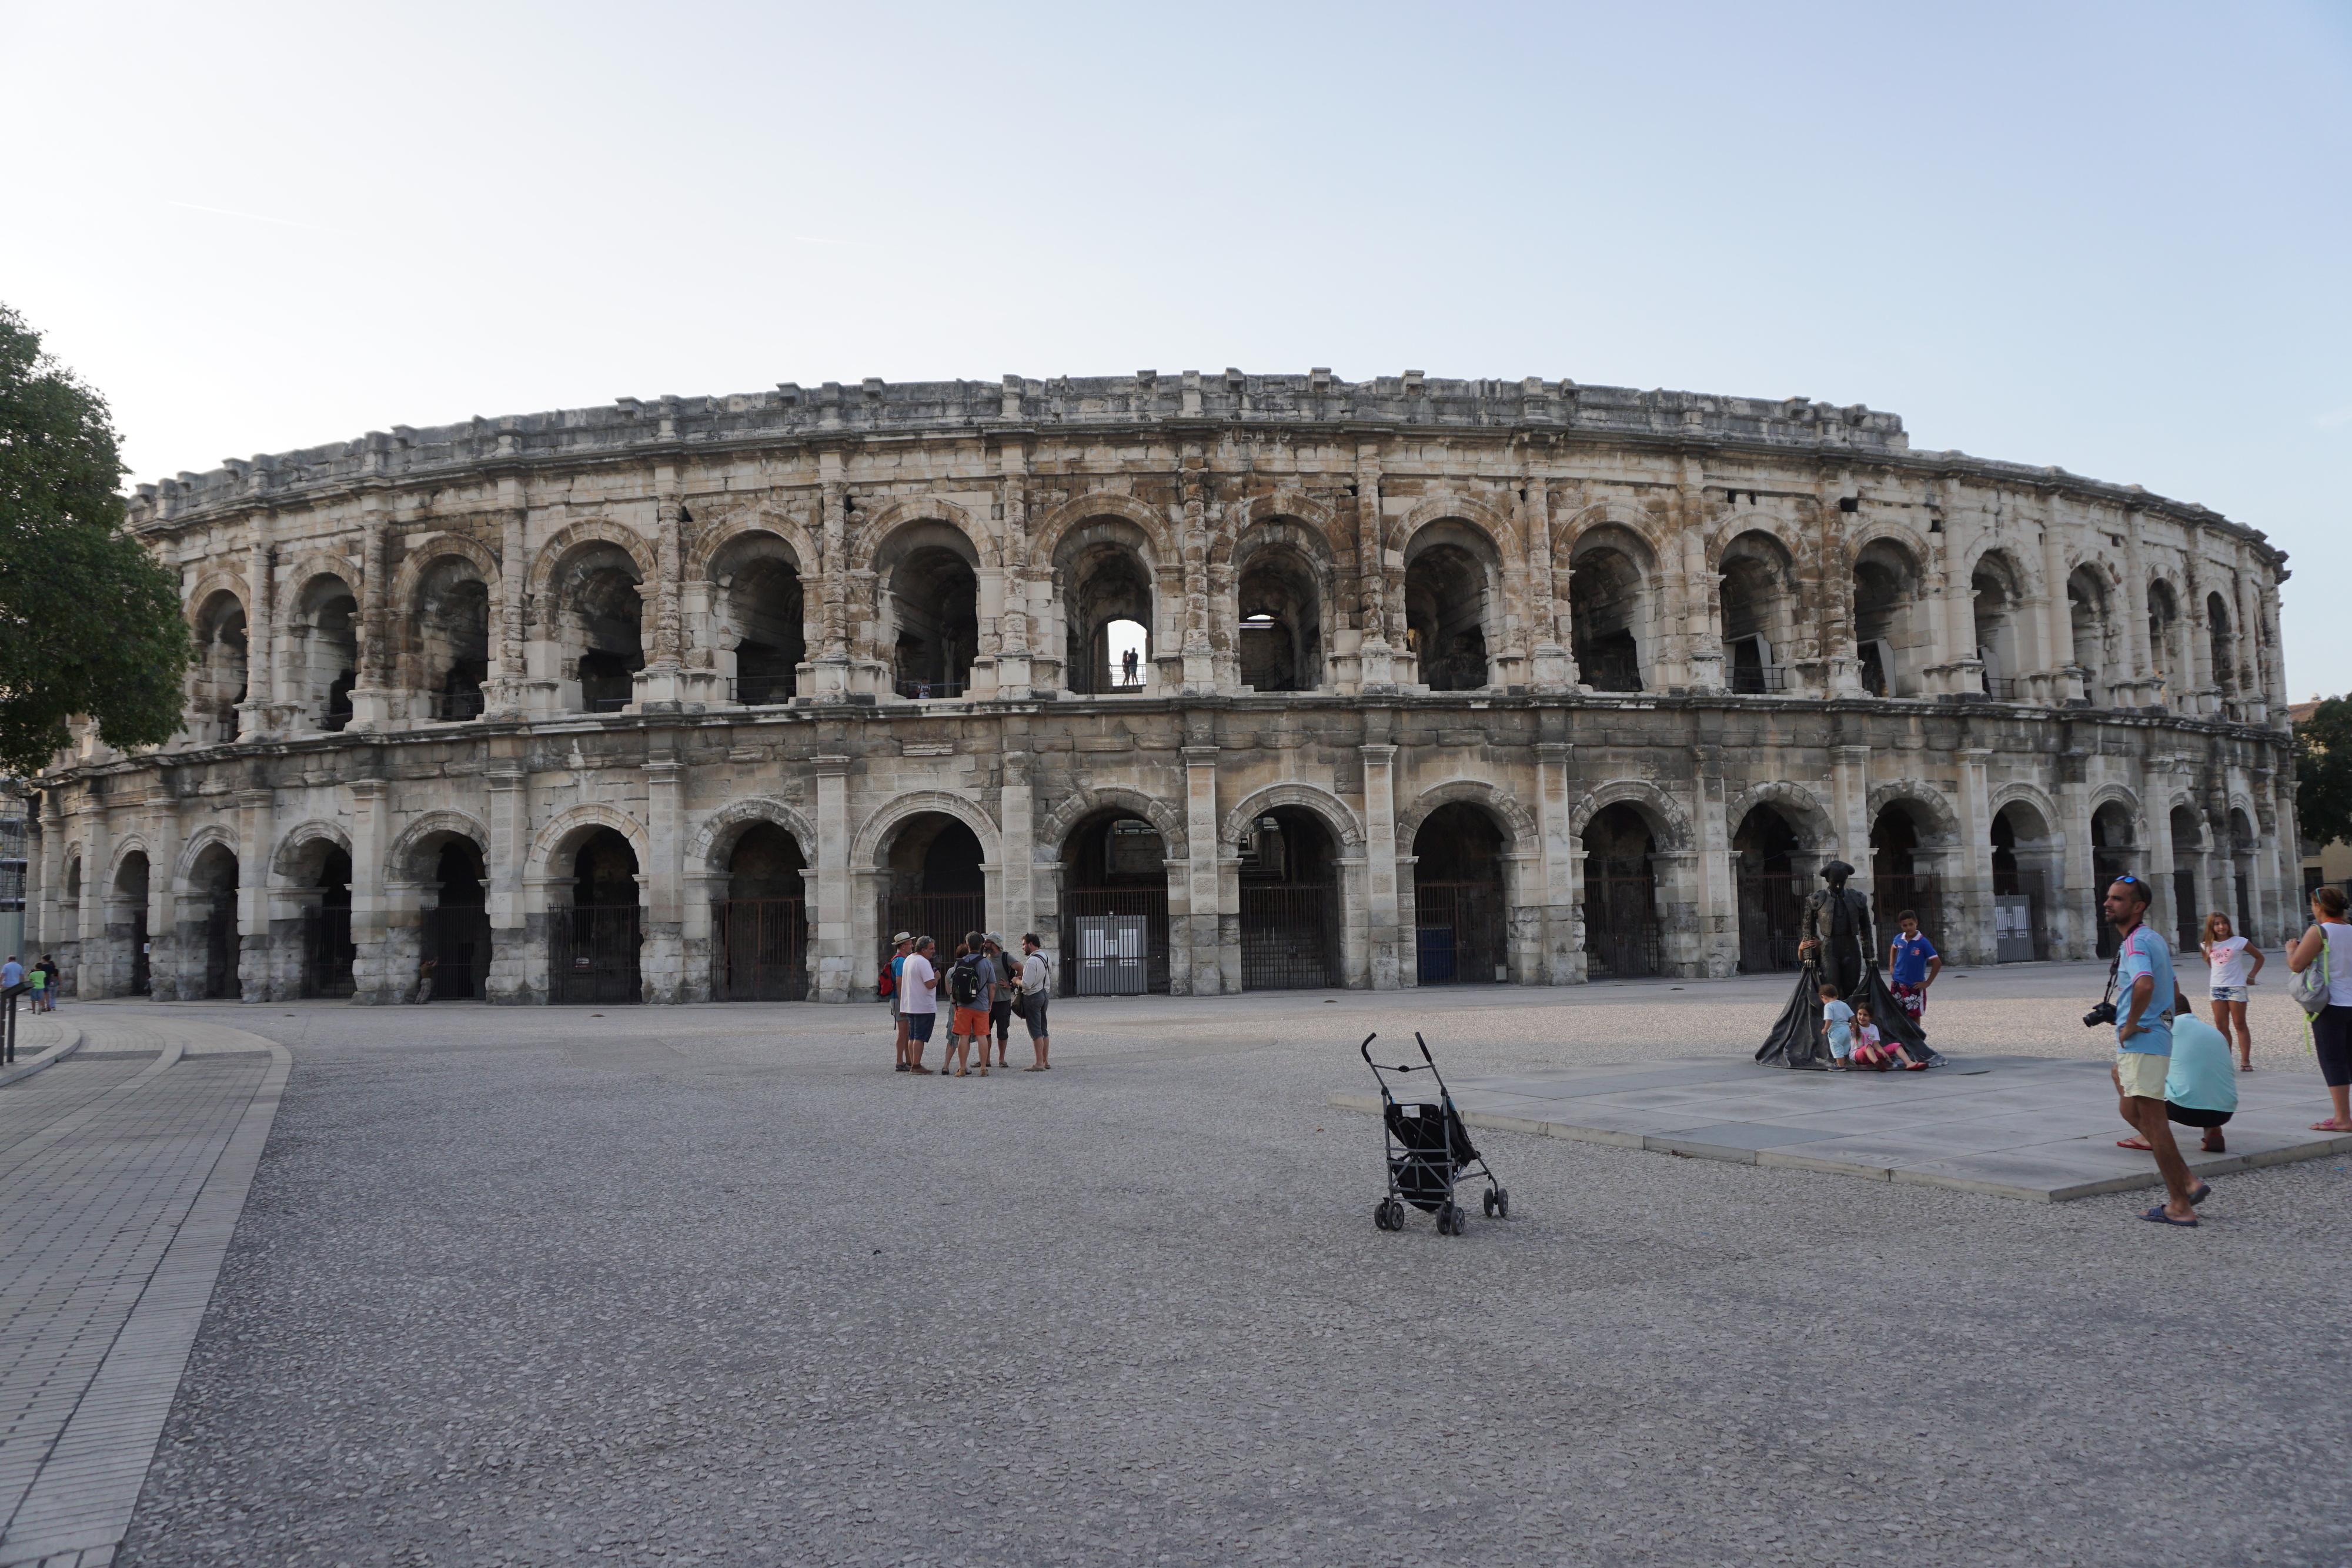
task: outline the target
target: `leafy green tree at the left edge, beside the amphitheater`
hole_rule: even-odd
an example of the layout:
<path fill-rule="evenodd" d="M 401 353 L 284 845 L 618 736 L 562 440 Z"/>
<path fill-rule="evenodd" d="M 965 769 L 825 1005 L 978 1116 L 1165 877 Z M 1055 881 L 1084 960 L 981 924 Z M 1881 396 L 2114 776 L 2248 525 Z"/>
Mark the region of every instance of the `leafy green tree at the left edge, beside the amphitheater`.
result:
<path fill-rule="evenodd" d="M 122 531 L 106 400 L 0 306 L 0 771 L 33 776 L 89 715 L 115 748 L 179 731 L 195 651 L 179 581 Z"/>

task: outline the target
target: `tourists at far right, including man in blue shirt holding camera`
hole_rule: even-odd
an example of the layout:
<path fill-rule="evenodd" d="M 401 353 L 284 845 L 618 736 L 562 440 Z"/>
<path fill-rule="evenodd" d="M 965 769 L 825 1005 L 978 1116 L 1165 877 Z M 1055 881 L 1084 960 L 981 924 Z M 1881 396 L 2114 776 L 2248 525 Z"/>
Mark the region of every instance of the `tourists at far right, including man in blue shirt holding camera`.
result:
<path fill-rule="evenodd" d="M 2199 943 L 2213 1004 L 2213 1023 L 2206 1023 L 2183 1001 L 2173 980 L 2173 947 L 2147 929 L 2147 884 L 2138 877 L 2107 884 L 2105 912 L 2122 936 L 2110 980 L 2114 999 L 2100 1001 L 2084 1023 L 2114 1023 L 2117 1110 L 2133 1128 L 2117 1147 L 2147 1150 L 2164 1175 L 2164 1201 L 2140 1218 L 2192 1227 L 2197 1206 L 2213 1187 L 2190 1175 L 2180 1145 L 2173 1143 L 2173 1124 L 2201 1128 L 2201 1152 L 2227 1152 L 2223 1124 L 2237 1114 L 2237 1072 L 2253 1072 L 2246 987 L 2263 973 L 2263 952 L 2232 931 L 2227 914 L 2206 914 Z M 2319 1079 L 2333 1100 L 2333 1114 L 2314 1121 L 2314 1133 L 2352 1133 L 2352 924 L 2345 922 L 2345 910 L 2343 889 L 2314 889 L 2312 924 L 2286 947 Z"/>

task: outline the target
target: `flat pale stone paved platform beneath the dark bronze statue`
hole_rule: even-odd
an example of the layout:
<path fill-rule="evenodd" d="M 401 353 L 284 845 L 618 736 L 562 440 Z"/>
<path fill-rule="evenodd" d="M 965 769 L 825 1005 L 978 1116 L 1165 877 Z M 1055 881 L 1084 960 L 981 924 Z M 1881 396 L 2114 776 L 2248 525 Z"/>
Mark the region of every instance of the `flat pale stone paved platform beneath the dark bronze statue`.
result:
<path fill-rule="evenodd" d="M 1813 1074 L 1745 1060 L 1583 1067 L 1557 1074 L 1454 1079 L 1470 1126 L 1743 1166 L 1828 1171 L 1865 1180 L 1957 1187 L 2063 1204 L 2157 1187 L 2147 1154 L 2114 1147 L 2129 1128 L 2098 1060 L 1976 1056 L 1933 1072 Z M 1336 1093 L 1341 1110 L 1378 1112 L 1376 1093 Z M 2352 1133 L 2314 1133 L 2326 1110 L 2317 1072 L 2239 1079 L 2225 1154 L 2180 1152 L 2199 1175 L 2352 1152 Z"/>

